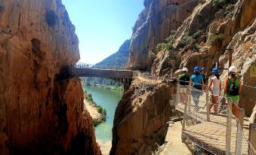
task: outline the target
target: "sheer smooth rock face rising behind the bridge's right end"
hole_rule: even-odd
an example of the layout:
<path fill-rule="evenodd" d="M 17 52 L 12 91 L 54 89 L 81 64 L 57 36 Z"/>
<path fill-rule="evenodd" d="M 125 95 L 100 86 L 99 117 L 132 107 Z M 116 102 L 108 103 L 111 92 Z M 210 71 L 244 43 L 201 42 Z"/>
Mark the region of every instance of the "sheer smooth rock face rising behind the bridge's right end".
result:
<path fill-rule="evenodd" d="M 149 68 L 148 52 L 176 30 L 193 12 L 198 0 L 145 0 L 131 37 L 128 68 Z"/>

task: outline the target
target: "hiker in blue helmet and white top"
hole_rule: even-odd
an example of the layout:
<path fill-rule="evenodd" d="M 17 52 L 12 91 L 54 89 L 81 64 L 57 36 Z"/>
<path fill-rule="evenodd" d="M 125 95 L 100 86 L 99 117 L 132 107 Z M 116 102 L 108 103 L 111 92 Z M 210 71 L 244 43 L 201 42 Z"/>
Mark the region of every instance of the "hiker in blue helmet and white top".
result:
<path fill-rule="evenodd" d="M 211 77 L 211 81 L 209 84 L 209 90 L 211 91 L 211 105 L 210 111 L 212 106 L 214 106 L 214 114 L 217 114 L 217 100 L 219 96 L 221 96 L 221 80 L 218 68 L 213 68 L 211 73 L 213 76 Z"/>

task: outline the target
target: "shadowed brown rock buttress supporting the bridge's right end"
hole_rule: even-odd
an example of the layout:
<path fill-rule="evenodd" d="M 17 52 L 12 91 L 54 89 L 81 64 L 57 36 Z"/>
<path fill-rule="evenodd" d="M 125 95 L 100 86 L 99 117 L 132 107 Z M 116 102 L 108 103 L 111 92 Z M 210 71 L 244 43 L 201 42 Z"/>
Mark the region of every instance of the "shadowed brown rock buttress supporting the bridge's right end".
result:
<path fill-rule="evenodd" d="M 151 154 L 165 142 L 175 86 L 135 81 L 116 108 L 110 154 Z"/>

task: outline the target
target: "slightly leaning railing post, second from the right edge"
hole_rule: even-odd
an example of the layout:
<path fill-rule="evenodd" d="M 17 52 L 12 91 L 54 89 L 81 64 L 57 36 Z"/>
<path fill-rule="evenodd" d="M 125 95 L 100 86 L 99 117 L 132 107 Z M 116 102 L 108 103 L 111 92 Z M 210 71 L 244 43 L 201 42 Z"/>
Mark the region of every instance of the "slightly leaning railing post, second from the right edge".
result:
<path fill-rule="evenodd" d="M 245 109 L 239 108 L 239 120 L 237 122 L 237 132 L 236 132 L 236 155 L 242 153 L 242 130 L 244 126 L 244 114 Z"/>

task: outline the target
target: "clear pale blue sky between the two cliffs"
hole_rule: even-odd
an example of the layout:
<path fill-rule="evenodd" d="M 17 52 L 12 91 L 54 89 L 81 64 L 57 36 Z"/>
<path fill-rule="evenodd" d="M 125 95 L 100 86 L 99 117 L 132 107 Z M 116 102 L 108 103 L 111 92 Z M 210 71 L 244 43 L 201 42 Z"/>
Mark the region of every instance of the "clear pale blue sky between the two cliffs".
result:
<path fill-rule="evenodd" d="M 95 64 L 131 38 L 143 0 L 63 0 L 76 26 L 81 61 Z"/>

